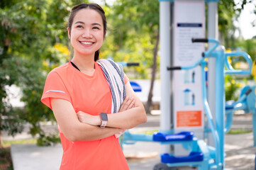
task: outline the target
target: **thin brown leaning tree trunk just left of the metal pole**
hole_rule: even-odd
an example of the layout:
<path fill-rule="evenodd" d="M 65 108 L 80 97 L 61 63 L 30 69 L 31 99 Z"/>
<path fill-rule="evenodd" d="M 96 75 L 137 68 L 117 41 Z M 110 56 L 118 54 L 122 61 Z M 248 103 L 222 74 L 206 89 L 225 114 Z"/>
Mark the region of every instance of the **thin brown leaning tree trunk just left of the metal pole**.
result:
<path fill-rule="evenodd" d="M 153 89 L 154 89 L 154 82 L 155 82 L 155 73 L 157 72 L 157 51 L 158 51 L 158 44 L 159 44 L 159 30 L 157 30 L 157 37 L 155 41 L 155 48 L 154 48 L 154 56 L 153 56 L 153 64 L 152 64 L 152 76 L 150 81 L 150 91 L 148 93 L 148 101 L 145 106 L 146 113 L 150 113 L 151 109 L 150 106 L 152 105 L 152 96 L 153 96 Z"/>

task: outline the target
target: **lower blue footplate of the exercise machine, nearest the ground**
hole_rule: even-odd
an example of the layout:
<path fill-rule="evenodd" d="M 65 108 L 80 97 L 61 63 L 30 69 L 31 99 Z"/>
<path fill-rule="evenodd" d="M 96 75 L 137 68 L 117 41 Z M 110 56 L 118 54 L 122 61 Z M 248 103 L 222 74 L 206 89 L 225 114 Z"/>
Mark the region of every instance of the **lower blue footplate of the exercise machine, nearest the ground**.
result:
<path fill-rule="evenodd" d="M 174 157 L 169 154 L 161 155 L 161 162 L 165 164 L 174 164 L 182 162 L 202 162 L 204 154 L 201 152 L 191 152 L 187 157 Z"/>

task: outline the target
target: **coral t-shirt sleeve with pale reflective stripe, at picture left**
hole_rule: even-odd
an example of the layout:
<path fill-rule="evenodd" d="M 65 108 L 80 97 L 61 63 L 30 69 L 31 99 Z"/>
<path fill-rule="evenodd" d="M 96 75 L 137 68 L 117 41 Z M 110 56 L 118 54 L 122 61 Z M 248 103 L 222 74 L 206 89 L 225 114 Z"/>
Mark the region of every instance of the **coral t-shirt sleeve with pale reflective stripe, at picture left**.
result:
<path fill-rule="evenodd" d="M 57 72 L 50 72 L 45 81 L 41 102 L 52 109 L 50 98 L 61 98 L 71 102 L 65 83 Z"/>

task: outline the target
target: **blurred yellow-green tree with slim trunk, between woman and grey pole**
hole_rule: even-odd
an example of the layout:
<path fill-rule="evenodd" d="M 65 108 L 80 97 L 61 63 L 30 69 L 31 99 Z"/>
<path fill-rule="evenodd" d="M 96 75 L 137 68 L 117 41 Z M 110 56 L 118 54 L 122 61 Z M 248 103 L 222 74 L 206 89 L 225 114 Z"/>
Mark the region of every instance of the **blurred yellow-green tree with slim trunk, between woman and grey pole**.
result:
<path fill-rule="evenodd" d="M 150 91 L 146 112 L 150 112 L 152 103 L 152 89 L 157 72 L 157 52 L 159 44 L 159 2 L 158 1 L 128 1 L 119 0 L 112 6 L 108 18 L 111 18 L 111 26 L 114 29 L 113 43 L 116 49 L 113 50 L 113 58 L 117 58 L 119 52 L 124 52 L 124 61 L 140 62 L 138 72 L 144 74 L 151 67 Z M 143 36 L 148 36 L 148 44 L 140 41 Z M 131 55 L 131 54 L 134 54 Z M 143 54 L 143 55 L 141 55 Z M 136 58 L 135 56 L 141 56 Z M 121 57 L 118 57 L 122 59 Z"/>

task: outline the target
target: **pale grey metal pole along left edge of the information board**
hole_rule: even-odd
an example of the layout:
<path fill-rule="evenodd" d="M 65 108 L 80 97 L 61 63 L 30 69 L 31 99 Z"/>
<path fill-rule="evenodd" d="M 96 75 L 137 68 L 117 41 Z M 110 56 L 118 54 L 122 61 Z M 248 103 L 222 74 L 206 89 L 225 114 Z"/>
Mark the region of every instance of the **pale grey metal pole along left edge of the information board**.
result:
<path fill-rule="evenodd" d="M 171 2 L 160 1 L 160 131 L 168 132 L 171 128 L 171 75 L 167 71 L 171 61 Z M 161 153 L 170 152 L 170 145 L 161 145 Z"/>

